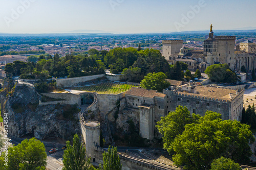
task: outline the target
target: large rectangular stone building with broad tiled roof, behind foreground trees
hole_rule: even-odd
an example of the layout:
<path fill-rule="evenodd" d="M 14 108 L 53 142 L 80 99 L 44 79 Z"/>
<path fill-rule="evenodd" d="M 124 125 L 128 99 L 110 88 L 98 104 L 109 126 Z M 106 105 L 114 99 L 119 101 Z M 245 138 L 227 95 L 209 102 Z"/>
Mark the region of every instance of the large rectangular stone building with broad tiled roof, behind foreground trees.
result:
<path fill-rule="evenodd" d="M 179 105 L 186 106 L 190 113 L 204 116 L 207 110 L 222 114 L 222 119 L 242 118 L 243 89 L 232 90 L 187 84 L 163 91 L 167 95 L 167 112 L 175 111 Z"/>

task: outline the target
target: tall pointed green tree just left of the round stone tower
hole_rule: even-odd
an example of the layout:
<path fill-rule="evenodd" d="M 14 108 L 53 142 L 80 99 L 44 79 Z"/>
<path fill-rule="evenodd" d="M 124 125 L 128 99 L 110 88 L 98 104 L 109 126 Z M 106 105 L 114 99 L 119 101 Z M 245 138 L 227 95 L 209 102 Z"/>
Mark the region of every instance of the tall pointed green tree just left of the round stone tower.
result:
<path fill-rule="evenodd" d="M 91 158 L 86 158 L 86 149 L 80 142 L 78 135 L 74 135 L 73 146 L 67 141 L 67 149 L 63 154 L 64 170 L 87 170 L 93 169 Z"/>

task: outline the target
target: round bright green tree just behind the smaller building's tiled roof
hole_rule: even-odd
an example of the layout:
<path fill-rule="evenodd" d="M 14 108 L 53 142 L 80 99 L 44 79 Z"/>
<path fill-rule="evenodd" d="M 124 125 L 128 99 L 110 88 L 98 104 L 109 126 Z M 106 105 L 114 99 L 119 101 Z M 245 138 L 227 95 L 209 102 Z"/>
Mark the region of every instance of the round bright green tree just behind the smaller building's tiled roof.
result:
<path fill-rule="evenodd" d="M 163 89 L 170 86 L 170 83 L 167 82 L 166 76 L 163 72 L 157 73 L 149 73 L 147 74 L 144 79 L 141 81 L 141 87 L 145 89 L 152 89 L 162 92 Z"/>

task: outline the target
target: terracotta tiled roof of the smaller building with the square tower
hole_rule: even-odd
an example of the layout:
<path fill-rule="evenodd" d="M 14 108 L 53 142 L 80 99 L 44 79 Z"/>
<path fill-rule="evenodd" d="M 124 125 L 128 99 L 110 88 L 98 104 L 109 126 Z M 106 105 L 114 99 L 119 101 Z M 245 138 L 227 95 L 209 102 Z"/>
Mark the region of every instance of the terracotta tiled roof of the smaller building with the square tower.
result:
<path fill-rule="evenodd" d="M 154 98 L 155 96 L 160 98 L 165 97 L 165 94 L 157 92 L 157 90 L 147 90 L 144 88 L 137 88 L 137 87 L 132 87 L 130 90 L 126 92 L 126 95 L 135 95 L 135 96 L 140 96 L 145 98 Z"/>

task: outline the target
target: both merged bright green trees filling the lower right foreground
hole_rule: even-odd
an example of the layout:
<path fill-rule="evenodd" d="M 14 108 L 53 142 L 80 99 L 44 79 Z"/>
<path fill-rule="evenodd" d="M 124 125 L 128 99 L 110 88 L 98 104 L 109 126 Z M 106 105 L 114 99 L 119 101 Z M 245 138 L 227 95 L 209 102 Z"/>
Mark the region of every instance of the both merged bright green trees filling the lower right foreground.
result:
<path fill-rule="evenodd" d="M 248 143 L 254 137 L 248 125 L 222 120 L 221 114 L 212 111 L 199 119 L 194 117 L 188 115 L 187 109 L 178 107 L 158 122 L 164 148 L 173 154 L 176 165 L 184 165 L 185 169 L 209 169 L 211 162 L 221 156 L 241 163 L 249 161 L 252 152 Z"/>

